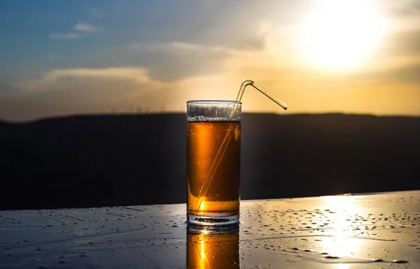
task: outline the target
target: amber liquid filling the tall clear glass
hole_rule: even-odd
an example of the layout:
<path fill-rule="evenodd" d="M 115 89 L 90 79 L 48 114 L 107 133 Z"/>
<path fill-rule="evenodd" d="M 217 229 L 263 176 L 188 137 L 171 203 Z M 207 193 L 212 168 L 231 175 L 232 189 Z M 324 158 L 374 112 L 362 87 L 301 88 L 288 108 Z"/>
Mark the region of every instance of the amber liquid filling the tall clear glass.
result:
<path fill-rule="evenodd" d="M 187 129 L 188 213 L 238 215 L 241 122 L 188 122 Z M 227 135 L 225 153 L 211 177 L 209 170 Z"/>

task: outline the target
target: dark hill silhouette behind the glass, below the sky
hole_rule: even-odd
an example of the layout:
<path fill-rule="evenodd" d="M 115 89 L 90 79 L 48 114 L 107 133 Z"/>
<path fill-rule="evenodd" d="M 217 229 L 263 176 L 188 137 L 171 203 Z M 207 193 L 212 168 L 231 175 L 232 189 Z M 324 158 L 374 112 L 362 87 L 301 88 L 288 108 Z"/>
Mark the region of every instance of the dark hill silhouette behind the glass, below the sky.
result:
<path fill-rule="evenodd" d="M 186 201 L 186 116 L 0 122 L 1 209 Z M 420 118 L 244 114 L 241 198 L 420 189 Z"/>

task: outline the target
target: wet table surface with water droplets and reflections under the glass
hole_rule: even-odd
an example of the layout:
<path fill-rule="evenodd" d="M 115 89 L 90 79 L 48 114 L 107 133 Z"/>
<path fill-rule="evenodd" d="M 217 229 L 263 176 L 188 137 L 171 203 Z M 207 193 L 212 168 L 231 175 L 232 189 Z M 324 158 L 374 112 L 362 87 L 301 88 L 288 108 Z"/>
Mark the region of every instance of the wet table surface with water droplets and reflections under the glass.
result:
<path fill-rule="evenodd" d="M 0 212 L 0 268 L 420 268 L 420 191 L 241 201 L 202 231 L 186 205 Z"/>

